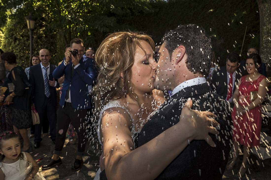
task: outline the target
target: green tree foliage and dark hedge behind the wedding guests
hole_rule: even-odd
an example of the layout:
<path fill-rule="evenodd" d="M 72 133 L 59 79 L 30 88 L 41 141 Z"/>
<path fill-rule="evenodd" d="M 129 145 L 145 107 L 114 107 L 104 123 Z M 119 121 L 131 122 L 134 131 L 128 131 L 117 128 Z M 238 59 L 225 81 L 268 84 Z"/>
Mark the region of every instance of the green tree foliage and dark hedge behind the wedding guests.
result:
<path fill-rule="evenodd" d="M 48 48 L 54 64 L 63 58 L 64 46 L 73 38 L 82 38 L 86 48 L 96 49 L 107 34 L 130 29 L 152 35 L 159 44 L 165 31 L 193 23 L 214 39 L 223 64 L 227 50 L 240 53 L 246 26 L 242 56 L 249 45 L 259 46 L 257 11 L 256 0 L 0 0 L 0 47 L 14 51 L 20 65 L 27 67 L 29 31 L 24 16 L 29 12 L 38 18 L 34 53 Z"/>

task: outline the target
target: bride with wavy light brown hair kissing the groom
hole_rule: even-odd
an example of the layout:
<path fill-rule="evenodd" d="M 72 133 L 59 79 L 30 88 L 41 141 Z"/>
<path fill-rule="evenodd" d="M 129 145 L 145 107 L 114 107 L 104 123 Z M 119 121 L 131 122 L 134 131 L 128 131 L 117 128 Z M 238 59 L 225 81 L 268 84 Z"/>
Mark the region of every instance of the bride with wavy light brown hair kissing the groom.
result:
<path fill-rule="evenodd" d="M 95 179 L 154 179 L 189 141 L 205 139 L 210 121 L 218 125 L 212 119 L 214 114 L 191 110 L 189 99 L 179 123 L 136 148 L 137 132 L 165 101 L 162 91 L 153 88 L 157 65 L 153 51 L 150 36 L 136 32 L 110 34 L 97 49 L 95 60 L 100 71 L 94 102 L 103 154 L 102 173 L 99 176 L 99 170 Z M 208 144 L 214 146 L 212 139 Z"/>

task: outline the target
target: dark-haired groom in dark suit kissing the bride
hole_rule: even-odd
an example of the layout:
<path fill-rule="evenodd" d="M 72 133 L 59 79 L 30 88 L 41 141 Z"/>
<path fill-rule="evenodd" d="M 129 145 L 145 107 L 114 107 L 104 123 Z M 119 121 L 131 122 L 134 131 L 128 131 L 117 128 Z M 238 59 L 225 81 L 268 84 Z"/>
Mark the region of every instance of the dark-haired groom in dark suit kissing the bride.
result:
<path fill-rule="evenodd" d="M 172 96 L 143 126 L 138 146 L 177 124 L 184 103 L 192 98 L 193 109 L 217 115 L 220 134 L 210 134 L 216 147 L 204 140 L 193 140 L 157 179 L 222 179 L 231 148 L 231 111 L 205 79 L 211 67 L 211 40 L 203 28 L 189 24 L 165 34 L 162 43 L 154 87 L 171 90 Z"/>

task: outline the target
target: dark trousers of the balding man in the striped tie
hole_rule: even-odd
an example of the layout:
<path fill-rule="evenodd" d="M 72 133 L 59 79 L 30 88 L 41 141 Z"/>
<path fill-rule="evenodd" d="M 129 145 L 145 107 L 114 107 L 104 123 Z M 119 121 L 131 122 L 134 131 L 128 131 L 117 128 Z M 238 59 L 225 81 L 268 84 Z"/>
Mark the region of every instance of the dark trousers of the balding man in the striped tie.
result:
<path fill-rule="evenodd" d="M 51 140 L 56 139 L 56 107 L 53 105 L 51 98 L 45 98 L 45 101 L 42 106 L 36 106 L 38 116 L 40 117 L 40 124 L 35 125 L 35 139 L 34 142 L 41 142 L 41 130 L 43 126 L 43 121 L 45 114 L 48 117 L 49 126 L 50 126 L 50 136 Z"/>

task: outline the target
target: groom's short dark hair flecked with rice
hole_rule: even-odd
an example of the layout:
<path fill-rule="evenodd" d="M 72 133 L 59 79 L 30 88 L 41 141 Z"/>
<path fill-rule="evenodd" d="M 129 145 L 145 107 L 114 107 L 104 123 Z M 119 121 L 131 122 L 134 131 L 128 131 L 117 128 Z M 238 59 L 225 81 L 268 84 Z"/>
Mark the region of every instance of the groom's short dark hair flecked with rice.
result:
<path fill-rule="evenodd" d="M 202 27 L 195 24 L 179 25 L 163 36 L 162 43 L 169 52 L 170 61 L 175 49 L 183 45 L 187 54 L 188 70 L 194 74 L 209 74 L 212 62 L 211 39 Z"/>

